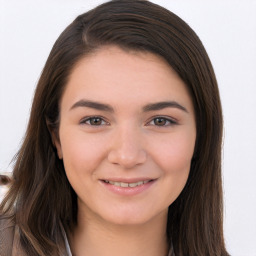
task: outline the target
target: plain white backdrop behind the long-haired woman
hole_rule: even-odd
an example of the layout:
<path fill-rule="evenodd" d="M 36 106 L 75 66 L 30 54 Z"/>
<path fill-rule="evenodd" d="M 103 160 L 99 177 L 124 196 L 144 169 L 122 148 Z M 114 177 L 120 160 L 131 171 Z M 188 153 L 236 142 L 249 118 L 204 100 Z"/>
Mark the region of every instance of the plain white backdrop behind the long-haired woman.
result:
<path fill-rule="evenodd" d="M 33 92 L 62 30 L 99 0 L 0 0 L 0 171 L 11 171 Z M 223 103 L 224 230 L 256 256 L 256 1 L 154 0 L 184 19 L 212 60 Z"/>

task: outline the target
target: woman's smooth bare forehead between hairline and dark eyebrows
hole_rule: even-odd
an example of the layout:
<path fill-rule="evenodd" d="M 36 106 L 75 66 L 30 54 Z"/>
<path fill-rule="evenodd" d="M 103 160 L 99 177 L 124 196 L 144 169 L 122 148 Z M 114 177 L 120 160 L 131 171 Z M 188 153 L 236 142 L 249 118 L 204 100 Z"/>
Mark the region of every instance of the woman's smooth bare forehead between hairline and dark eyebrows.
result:
<path fill-rule="evenodd" d="M 163 58 L 116 46 L 101 48 L 74 67 L 61 105 L 83 97 L 124 107 L 168 100 L 191 104 L 186 85 Z"/>

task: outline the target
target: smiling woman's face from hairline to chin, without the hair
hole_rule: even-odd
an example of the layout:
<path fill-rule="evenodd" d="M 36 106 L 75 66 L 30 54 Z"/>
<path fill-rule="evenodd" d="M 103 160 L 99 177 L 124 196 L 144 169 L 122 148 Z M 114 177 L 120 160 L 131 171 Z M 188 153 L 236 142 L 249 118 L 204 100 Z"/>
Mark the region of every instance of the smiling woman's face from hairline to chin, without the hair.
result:
<path fill-rule="evenodd" d="M 91 220 L 166 219 L 187 181 L 195 139 L 190 95 L 160 57 L 109 46 L 71 73 L 55 144 L 78 211 Z"/>

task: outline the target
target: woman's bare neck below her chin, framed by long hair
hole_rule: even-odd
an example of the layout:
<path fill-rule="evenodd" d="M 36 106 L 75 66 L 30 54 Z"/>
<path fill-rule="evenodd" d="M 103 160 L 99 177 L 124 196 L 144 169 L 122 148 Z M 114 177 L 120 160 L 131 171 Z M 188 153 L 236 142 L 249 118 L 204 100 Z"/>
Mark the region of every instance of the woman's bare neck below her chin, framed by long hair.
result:
<path fill-rule="evenodd" d="M 78 215 L 78 225 L 70 235 L 71 250 L 74 256 L 166 256 L 166 224 L 166 212 L 140 225 L 89 221 Z"/>

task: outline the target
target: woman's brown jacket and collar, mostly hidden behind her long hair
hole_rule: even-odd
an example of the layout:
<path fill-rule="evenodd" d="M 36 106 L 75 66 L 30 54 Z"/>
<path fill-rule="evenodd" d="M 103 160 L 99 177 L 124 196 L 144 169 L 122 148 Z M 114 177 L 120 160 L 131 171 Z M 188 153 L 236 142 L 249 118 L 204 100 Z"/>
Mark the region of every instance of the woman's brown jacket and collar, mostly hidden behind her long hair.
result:
<path fill-rule="evenodd" d="M 66 233 L 63 229 L 67 256 L 72 256 Z M 28 256 L 20 245 L 18 226 L 8 219 L 0 220 L 0 255 Z M 168 256 L 174 256 L 171 249 Z"/>

